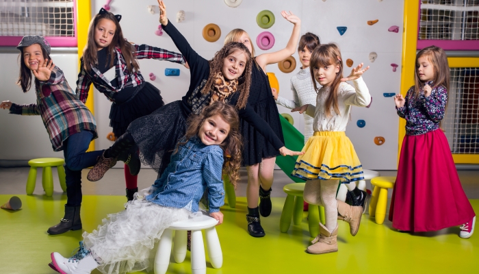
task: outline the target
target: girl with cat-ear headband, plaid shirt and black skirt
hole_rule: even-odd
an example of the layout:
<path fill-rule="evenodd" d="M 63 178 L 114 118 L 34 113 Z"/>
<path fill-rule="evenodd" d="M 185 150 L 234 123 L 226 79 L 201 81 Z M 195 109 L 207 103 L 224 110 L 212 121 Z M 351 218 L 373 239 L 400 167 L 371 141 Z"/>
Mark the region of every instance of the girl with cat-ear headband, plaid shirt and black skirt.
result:
<path fill-rule="evenodd" d="M 77 94 L 81 101 L 86 101 L 90 84 L 93 84 L 113 102 L 109 119 L 117 138 L 125 133 L 133 120 L 151 114 L 164 105 L 159 90 L 146 82 L 140 73 L 138 59 L 168 60 L 185 64 L 179 53 L 127 42 L 123 38 L 120 19 L 120 15 L 114 15 L 103 8 L 94 16 L 88 30 L 88 41 L 81 58 L 81 71 L 77 81 Z M 118 160 L 125 162 L 129 201 L 138 191 L 140 160 L 136 151 L 135 147 L 131 147 L 118 157 Z M 102 157 L 109 158 L 109 155 Z"/>

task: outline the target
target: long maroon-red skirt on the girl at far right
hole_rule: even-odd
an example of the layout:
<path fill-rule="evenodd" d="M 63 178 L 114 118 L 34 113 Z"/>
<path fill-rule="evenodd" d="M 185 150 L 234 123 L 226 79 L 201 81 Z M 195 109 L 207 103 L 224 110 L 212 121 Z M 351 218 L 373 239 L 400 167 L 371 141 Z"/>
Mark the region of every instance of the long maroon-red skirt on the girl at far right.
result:
<path fill-rule="evenodd" d="M 396 229 L 428 232 L 475 216 L 441 129 L 404 137 L 389 221 Z"/>

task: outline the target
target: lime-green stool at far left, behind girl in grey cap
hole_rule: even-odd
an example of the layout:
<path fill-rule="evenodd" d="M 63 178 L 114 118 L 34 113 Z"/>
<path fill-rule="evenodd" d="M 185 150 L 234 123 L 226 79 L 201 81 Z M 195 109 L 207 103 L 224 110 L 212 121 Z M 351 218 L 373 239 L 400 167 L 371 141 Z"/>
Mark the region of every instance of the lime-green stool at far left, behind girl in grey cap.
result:
<path fill-rule="evenodd" d="M 62 158 L 38 158 L 28 161 L 30 168 L 30 172 L 28 173 L 28 180 L 27 180 L 27 195 L 31 195 L 34 193 L 35 184 L 36 184 L 36 168 L 42 167 L 42 186 L 43 190 L 45 190 L 45 194 L 48 197 L 53 195 L 53 175 L 51 174 L 51 167 L 56 166 L 58 171 L 58 179 L 60 179 L 60 186 L 62 186 L 62 190 L 66 191 L 66 183 L 65 183 L 65 169 L 63 165 L 65 164 L 65 160 Z"/>

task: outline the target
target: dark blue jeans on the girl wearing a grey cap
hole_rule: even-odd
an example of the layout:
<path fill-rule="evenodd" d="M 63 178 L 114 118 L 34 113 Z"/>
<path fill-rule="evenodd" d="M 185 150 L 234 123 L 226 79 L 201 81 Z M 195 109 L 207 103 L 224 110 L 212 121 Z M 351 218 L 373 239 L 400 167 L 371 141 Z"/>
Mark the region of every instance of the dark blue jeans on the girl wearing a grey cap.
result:
<path fill-rule="evenodd" d="M 69 136 L 64 141 L 63 155 L 65 157 L 66 205 L 81 205 L 81 170 L 96 164 L 96 159 L 103 151 L 86 152 L 93 134 L 82 130 Z"/>

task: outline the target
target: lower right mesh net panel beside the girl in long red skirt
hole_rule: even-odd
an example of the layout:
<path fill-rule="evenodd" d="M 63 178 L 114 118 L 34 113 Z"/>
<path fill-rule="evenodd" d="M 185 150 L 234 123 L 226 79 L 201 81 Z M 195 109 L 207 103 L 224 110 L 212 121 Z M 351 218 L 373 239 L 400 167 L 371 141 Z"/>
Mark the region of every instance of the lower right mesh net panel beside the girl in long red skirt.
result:
<path fill-rule="evenodd" d="M 479 68 L 451 68 L 442 126 L 452 153 L 479 154 Z"/>

